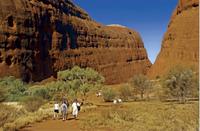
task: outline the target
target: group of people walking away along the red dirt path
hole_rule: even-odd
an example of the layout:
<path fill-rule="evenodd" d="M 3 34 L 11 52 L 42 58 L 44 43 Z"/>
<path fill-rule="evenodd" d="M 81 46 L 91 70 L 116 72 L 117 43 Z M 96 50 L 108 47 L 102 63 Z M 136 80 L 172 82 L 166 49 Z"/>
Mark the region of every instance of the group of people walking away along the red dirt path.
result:
<path fill-rule="evenodd" d="M 78 112 L 80 111 L 81 105 L 77 99 L 75 99 L 72 103 L 72 115 L 76 119 L 78 117 Z M 67 100 L 63 100 L 61 106 L 59 106 L 58 102 L 54 104 L 54 119 L 59 118 L 59 111 L 61 111 L 63 121 L 67 120 L 69 109 L 69 103 Z"/>

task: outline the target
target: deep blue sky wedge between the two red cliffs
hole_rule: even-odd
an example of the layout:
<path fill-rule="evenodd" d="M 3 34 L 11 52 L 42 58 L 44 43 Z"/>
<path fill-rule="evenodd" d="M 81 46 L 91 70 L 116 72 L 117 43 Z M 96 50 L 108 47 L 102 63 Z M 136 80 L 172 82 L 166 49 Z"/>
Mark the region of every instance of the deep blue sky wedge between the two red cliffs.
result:
<path fill-rule="evenodd" d="M 154 63 L 178 0 L 72 0 L 97 22 L 138 31 Z"/>

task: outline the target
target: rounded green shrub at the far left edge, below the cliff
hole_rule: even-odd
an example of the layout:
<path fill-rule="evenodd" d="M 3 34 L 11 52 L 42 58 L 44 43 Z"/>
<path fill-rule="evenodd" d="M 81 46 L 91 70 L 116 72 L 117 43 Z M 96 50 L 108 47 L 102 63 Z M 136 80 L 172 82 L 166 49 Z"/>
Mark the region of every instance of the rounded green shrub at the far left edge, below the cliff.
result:
<path fill-rule="evenodd" d="M 20 79 L 10 76 L 0 79 L 0 88 L 6 92 L 4 94 L 6 101 L 18 101 L 24 96 L 27 85 Z"/>

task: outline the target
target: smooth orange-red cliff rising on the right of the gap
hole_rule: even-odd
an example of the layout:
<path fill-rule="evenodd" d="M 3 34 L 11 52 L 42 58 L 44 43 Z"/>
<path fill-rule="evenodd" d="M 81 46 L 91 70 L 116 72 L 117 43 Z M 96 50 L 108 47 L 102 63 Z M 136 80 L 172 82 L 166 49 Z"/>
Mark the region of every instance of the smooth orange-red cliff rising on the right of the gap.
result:
<path fill-rule="evenodd" d="M 170 68 L 182 65 L 199 68 L 199 1 L 180 0 L 173 12 L 151 77 L 164 75 Z"/>

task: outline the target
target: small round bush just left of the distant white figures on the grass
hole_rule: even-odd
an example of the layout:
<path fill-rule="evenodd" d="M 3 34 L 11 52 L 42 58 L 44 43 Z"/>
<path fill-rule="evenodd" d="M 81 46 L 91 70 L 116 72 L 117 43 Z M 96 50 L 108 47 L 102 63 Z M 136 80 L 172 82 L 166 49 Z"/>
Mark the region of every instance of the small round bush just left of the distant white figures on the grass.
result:
<path fill-rule="evenodd" d="M 102 91 L 102 96 L 105 102 L 111 102 L 116 97 L 116 92 L 110 88 L 104 88 Z"/>

